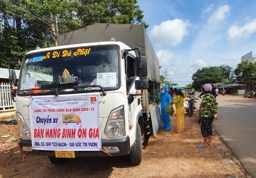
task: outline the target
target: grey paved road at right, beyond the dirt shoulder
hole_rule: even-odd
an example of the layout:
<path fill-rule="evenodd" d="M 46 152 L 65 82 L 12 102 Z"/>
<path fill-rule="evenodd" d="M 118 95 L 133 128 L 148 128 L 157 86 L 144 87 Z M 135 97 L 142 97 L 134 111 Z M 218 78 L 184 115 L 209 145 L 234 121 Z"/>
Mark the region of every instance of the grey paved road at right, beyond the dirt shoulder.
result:
<path fill-rule="evenodd" d="M 217 96 L 219 120 L 213 127 L 248 174 L 256 178 L 256 98 Z"/>

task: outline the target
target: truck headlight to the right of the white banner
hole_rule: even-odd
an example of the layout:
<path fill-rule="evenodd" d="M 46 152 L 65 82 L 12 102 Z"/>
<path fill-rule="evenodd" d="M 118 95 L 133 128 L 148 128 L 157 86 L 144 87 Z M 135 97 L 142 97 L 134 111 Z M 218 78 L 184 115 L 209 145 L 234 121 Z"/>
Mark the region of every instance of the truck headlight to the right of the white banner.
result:
<path fill-rule="evenodd" d="M 110 112 L 104 134 L 107 137 L 125 136 L 124 106 L 115 108 Z"/>

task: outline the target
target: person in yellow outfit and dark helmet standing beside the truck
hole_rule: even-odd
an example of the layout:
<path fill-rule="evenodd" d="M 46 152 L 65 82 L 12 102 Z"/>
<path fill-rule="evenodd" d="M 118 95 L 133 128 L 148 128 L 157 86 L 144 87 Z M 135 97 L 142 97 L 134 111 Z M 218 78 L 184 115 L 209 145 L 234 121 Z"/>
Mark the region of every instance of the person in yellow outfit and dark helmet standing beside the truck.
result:
<path fill-rule="evenodd" d="M 173 103 L 175 104 L 178 122 L 178 130 L 175 131 L 175 133 L 182 133 L 184 130 L 184 98 L 186 98 L 186 96 L 182 93 L 181 89 L 178 87 L 174 88 Z"/>

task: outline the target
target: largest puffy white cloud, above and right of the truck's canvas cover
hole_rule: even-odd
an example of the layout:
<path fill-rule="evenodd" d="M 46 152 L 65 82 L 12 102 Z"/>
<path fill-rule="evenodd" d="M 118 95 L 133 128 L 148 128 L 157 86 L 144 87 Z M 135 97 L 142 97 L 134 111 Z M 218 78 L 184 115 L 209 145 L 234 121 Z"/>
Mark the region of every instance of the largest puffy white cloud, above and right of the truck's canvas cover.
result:
<path fill-rule="evenodd" d="M 175 46 L 181 43 L 183 38 L 188 35 L 187 28 L 190 26 L 188 21 L 181 19 L 167 20 L 160 25 L 155 25 L 149 32 L 151 41 L 161 47 L 161 45 Z"/>

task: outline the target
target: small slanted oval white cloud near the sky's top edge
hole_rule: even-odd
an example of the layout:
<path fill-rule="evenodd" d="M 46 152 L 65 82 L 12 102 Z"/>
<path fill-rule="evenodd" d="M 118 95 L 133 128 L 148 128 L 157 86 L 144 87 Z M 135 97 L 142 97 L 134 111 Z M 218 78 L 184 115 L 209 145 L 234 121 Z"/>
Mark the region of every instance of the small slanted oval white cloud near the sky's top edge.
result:
<path fill-rule="evenodd" d="M 228 5 L 224 5 L 219 7 L 208 19 L 209 23 L 218 23 L 225 19 L 227 14 L 229 13 L 230 7 Z"/>

